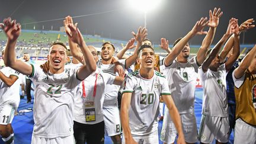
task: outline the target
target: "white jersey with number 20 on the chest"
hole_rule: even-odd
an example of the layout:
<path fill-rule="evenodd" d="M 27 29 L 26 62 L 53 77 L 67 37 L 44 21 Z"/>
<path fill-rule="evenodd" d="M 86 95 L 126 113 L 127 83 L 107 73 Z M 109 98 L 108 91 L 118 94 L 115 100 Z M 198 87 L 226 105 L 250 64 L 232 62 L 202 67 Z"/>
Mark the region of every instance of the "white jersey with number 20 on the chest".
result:
<path fill-rule="evenodd" d="M 158 135 L 159 97 L 170 95 L 167 79 L 156 71 L 151 79 L 145 79 L 135 71 L 127 75 L 124 92 L 132 92 L 129 126 L 133 138 Z"/>

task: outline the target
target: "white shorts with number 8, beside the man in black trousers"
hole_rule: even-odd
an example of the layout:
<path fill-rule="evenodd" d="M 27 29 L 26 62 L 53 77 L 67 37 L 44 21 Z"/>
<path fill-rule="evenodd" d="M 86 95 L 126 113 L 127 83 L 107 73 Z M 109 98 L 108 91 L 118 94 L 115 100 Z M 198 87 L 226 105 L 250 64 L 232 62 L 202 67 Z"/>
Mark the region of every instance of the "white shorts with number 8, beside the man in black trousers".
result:
<path fill-rule="evenodd" d="M 116 136 L 121 133 L 121 121 L 118 107 L 103 107 L 105 135 Z"/>

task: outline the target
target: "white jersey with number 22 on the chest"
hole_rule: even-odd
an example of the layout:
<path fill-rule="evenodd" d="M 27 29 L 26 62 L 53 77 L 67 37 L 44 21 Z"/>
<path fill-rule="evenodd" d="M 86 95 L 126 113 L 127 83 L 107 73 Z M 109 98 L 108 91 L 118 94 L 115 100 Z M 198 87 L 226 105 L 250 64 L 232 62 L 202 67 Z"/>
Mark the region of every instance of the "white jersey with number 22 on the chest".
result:
<path fill-rule="evenodd" d="M 81 81 L 76 78 L 78 68 L 65 68 L 58 74 L 44 73 L 33 67 L 31 80 L 34 91 L 34 130 L 36 137 L 55 138 L 73 134 L 75 90 Z"/>

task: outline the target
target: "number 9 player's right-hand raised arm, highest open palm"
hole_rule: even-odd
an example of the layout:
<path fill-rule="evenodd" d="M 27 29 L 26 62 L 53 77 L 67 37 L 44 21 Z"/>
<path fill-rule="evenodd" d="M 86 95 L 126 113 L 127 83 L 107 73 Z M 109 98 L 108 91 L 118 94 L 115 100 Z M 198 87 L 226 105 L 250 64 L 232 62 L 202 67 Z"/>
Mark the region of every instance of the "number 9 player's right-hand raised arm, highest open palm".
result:
<path fill-rule="evenodd" d="M 201 44 L 201 47 L 199 51 L 197 52 L 197 63 L 201 65 L 204 60 L 206 59 L 206 53 L 210 47 L 210 44 L 212 44 L 213 38 L 215 36 L 215 31 L 217 25 L 219 25 L 219 18 L 222 16 L 223 12 L 220 12 L 220 8 L 215 8 L 212 12 L 212 10 L 209 11 L 209 30 L 206 34 L 206 37 L 204 37 L 204 40 Z"/>

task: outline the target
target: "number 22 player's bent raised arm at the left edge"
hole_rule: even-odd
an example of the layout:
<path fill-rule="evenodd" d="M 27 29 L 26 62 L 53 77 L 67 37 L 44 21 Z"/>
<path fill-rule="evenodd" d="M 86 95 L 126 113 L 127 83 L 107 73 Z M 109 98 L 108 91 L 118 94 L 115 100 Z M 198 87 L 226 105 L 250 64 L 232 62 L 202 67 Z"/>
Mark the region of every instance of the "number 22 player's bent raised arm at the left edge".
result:
<path fill-rule="evenodd" d="M 11 21 L 11 18 L 5 18 L 4 23 L 1 23 L 0 26 L 5 31 L 8 38 L 7 46 L 5 47 L 5 65 L 24 75 L 31 75 L 32 66 L 23 62 L 23 60 L 16 59 L 15 55 L 15 45 L 21 33 L 21 25 L 19 23 L 16 24 L 15 20 Z"/>

